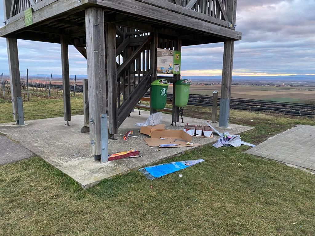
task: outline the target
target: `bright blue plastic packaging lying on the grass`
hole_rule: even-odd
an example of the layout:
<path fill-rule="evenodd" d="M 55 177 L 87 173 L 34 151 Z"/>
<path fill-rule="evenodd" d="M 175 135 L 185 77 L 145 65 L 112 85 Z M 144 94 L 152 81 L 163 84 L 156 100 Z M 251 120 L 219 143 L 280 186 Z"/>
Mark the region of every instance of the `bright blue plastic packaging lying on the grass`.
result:
<path fill-rule="evenodd" d="M 188 161 L 177 161 L 177 162 L 171 162 L 166 164 L 160 164 L 156 166 L 148 166 L 145 168 L 141 168 L 138 171 L 142 174 L 144 174 L 148 179 L 153 180 L 156 178 L 160 178 L 164 175 L 174 173 L 176 171 L 185 169 L 187 167 L 196 165 L 200 162 L 203 162 L 203 159 L 198 160 L 188 160 Z M 186 163 L 189 163 L 189 165 L 186 165 Z"/>

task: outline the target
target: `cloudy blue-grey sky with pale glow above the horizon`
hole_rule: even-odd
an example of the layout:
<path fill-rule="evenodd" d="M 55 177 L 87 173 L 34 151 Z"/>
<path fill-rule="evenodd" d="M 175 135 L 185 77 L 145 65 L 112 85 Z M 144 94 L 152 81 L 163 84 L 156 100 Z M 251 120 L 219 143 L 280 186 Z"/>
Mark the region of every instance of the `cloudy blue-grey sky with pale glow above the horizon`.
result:
<path fill-rule="evenodd" d="M 3 6 L 0 3 L 0 19 Z M 315 0 L 238 0 L 234 75 L 315 74 Z M 4 24 L 1 23 L 1 26 Z M 18 40 L 20 70 L 61 74 L 60 45 Z M 223 44 L 182 48 L 182 75 L 221 75 Z M 70 74 L 86 74 L 86 60 L 69 46 Z M 8 73 L 0 38 L 0 72 Z"/>

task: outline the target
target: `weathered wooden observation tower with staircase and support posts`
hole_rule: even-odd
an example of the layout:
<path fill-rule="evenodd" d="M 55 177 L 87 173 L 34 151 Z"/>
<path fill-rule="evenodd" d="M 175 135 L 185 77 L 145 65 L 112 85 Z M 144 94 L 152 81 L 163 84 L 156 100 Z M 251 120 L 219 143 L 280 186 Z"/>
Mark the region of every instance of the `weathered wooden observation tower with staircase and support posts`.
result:
<path fill-rule="evenodd" d="M 21 97 L 17 39 L 60 43 L 64 117 L 71 121 L 68 45 L 87 59 L 85 128 L 101 154 L 100 114 L 117 133 L 157 75 L 157 48 L 224 42 L 220 126 L 229 119 L 237 0 L 3 0 L 14 120 Z M 31 57 L 31 55 L 30 55 Z M 167 79 L 179 80 L 179 75 Z M 175 86 L 173 87 L 175 90 Z M 175 92 L 175 91 L 174 91 Z M 174 99 L 173 99 L 174 101 Z M 151 112 L 154 112 L 151 109 Z M 173 102 L 173 121 L 179 108 Z"/>

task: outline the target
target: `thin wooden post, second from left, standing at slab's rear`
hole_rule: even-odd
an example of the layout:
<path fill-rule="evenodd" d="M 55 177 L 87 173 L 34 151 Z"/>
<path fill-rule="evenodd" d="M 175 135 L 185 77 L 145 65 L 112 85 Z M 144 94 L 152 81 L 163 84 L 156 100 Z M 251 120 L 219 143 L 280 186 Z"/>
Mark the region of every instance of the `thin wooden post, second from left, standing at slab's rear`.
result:
<path fill-rule="evenodd" d="M 64 110 L 65 121 L 67 121 L 67 124 L 69 125 L 69 121 L 71 121 L 69 55 L 68 55 L 68 40 L 64 35 L 60 36 L 60 45 L 61 45 L 63 110 Z"/>

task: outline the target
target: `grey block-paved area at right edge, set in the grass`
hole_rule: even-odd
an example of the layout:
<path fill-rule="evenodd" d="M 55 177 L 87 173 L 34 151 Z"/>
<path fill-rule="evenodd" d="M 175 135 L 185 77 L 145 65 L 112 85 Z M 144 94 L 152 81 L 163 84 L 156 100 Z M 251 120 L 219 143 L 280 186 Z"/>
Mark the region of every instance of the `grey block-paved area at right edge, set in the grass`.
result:
<path fill-rule="evenodd" d="M 315 170 L 315 126 L 298 125 L 245 153 Z"/>

